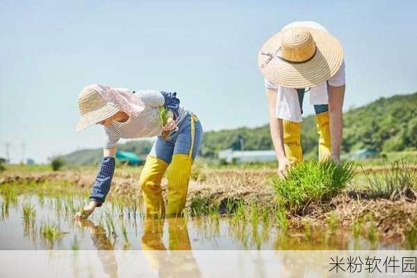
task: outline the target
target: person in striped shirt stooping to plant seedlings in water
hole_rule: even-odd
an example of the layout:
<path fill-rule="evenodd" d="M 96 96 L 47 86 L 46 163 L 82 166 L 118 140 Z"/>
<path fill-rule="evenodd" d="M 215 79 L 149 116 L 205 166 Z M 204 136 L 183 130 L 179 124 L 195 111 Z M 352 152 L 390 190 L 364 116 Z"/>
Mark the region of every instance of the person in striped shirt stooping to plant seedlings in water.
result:
<path fill-rule="evenodd" d="M 147 215 L 178 215 L 186 203 L 191 165 L 202 137 L 202 125 L 194 113 L 179 106 L 177 93 L 157 90 L 133 92 L 105 85 L 87 85 L 78 99 L 81 120 L 76 131 L 93 124 L 104 127 L 104 157 L 90 194 L 90 203 L 75 218 L 87 218 L 101 206 L 115 171 L 116 144 L 120 138 L 157 136 L 140 174 L 140 188 Z M 166 124 L 161 113 L 167 115 Z M 169 136 L 163 136 L 169 133 Z M 165 138 L 166 137 L 166 138 Z M 168 165 L 167 207 L 161 179 Z"/>

